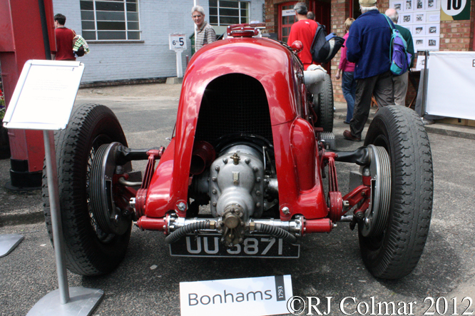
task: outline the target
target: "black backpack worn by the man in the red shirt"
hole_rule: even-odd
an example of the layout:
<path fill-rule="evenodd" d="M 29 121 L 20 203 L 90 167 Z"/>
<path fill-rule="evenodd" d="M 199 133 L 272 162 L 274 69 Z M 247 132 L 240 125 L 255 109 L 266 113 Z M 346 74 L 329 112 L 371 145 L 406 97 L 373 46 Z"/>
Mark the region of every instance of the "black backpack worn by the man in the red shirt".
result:
<path fill-rule="evenodd" d="M 343 46 L 344 39 L 337 34 L 330 33 L 327 35 L 325 25 L 318 24 L 317 31 L 310 46 L 312 59 L 316 63 L 327 63 L 338 53 Z"/>

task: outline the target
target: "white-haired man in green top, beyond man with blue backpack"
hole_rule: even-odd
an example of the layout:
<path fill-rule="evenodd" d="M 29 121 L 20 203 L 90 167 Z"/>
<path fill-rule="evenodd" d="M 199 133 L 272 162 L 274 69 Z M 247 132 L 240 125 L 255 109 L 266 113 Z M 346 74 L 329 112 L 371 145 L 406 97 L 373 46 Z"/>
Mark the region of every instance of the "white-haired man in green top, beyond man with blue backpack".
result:
<path fill-rule="evenodd" d="M 407 52 L 411 54 L 411 64 L 409 68 L 412 68 L 412 61 L 414 61 L 414 43 L 412 42 L 411 31 L 405 27 L 397 25 L 397 19 L 399 14 L 395 9 L 387 9 L 385 14 L 394 23 L 394 27 L 399 31 L 404 41 L 407 43 Z M 394 88 L 394 103 L 397 106 L 406 105 L 407 84 L 409 83 L 409 71 L 406 71 L 402 75 L 392 76 L 392 83 Z"/>

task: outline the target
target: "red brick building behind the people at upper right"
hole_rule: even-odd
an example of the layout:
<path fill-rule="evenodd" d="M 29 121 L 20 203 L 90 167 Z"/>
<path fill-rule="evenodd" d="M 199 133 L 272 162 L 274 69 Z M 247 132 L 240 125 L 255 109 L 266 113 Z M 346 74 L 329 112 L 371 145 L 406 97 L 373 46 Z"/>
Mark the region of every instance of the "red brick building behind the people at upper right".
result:
<path fill-rule="evenodd" d="M 470 19 L 462 21 L 440 21 L 440 51 L 474 51 L 474 16 L 475 0 L 471 1 Z M 290 26 L 294 22 L 294 15 L 286 12 L 292 9 L 298 1 L 265 0 L 266 31 L 277 35 L 277 39 L 287 41 Z M 310 11 L 315 12 L 316 20 L 327 26 L 328 32 L 339 36 L 344 35 L 344 21 L 348 17 L 354 19 L 359 16 L 358 0 L 305 0 Z M 389 0 L 378 0 L 379 11 L 384 12 L 389 8 Z M 286 15 L 289 14 L 289 15 Z M 329 27 L 330 26 L 330 27 Z M 334 89 L 334 101 L 345 102 L 341 89 L 341 80 L 335 80 L 339 53 L 331 62 L 331 74 Z M 412 91 L 411 91 L 412 90 Z M 409 94 L 414 94 L 414 89 L 409 85 Z M 410 101 L 410 98 L 407 98 Z"/>

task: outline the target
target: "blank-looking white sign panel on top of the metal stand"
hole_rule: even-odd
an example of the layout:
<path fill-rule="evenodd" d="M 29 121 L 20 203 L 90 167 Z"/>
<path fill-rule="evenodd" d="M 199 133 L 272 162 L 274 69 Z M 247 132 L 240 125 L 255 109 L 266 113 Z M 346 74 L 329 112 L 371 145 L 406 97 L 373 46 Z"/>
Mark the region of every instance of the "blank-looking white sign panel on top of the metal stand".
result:
<path fill-rule="evenodd" d="M 79 61 L 26 61 L 4 117 L 6 128 L 66 128 L 84 72 Z"/>

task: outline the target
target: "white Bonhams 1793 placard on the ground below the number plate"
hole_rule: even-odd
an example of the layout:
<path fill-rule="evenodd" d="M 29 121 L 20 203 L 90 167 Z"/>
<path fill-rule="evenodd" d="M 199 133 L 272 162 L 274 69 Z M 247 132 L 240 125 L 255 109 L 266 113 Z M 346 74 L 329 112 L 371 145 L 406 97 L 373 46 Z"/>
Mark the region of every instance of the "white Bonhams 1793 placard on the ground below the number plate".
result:
<path fill-rule="evenodd" d="M 290 297 L 290 275 L 180 282 L 181 316 L 287 314 Z"/>

